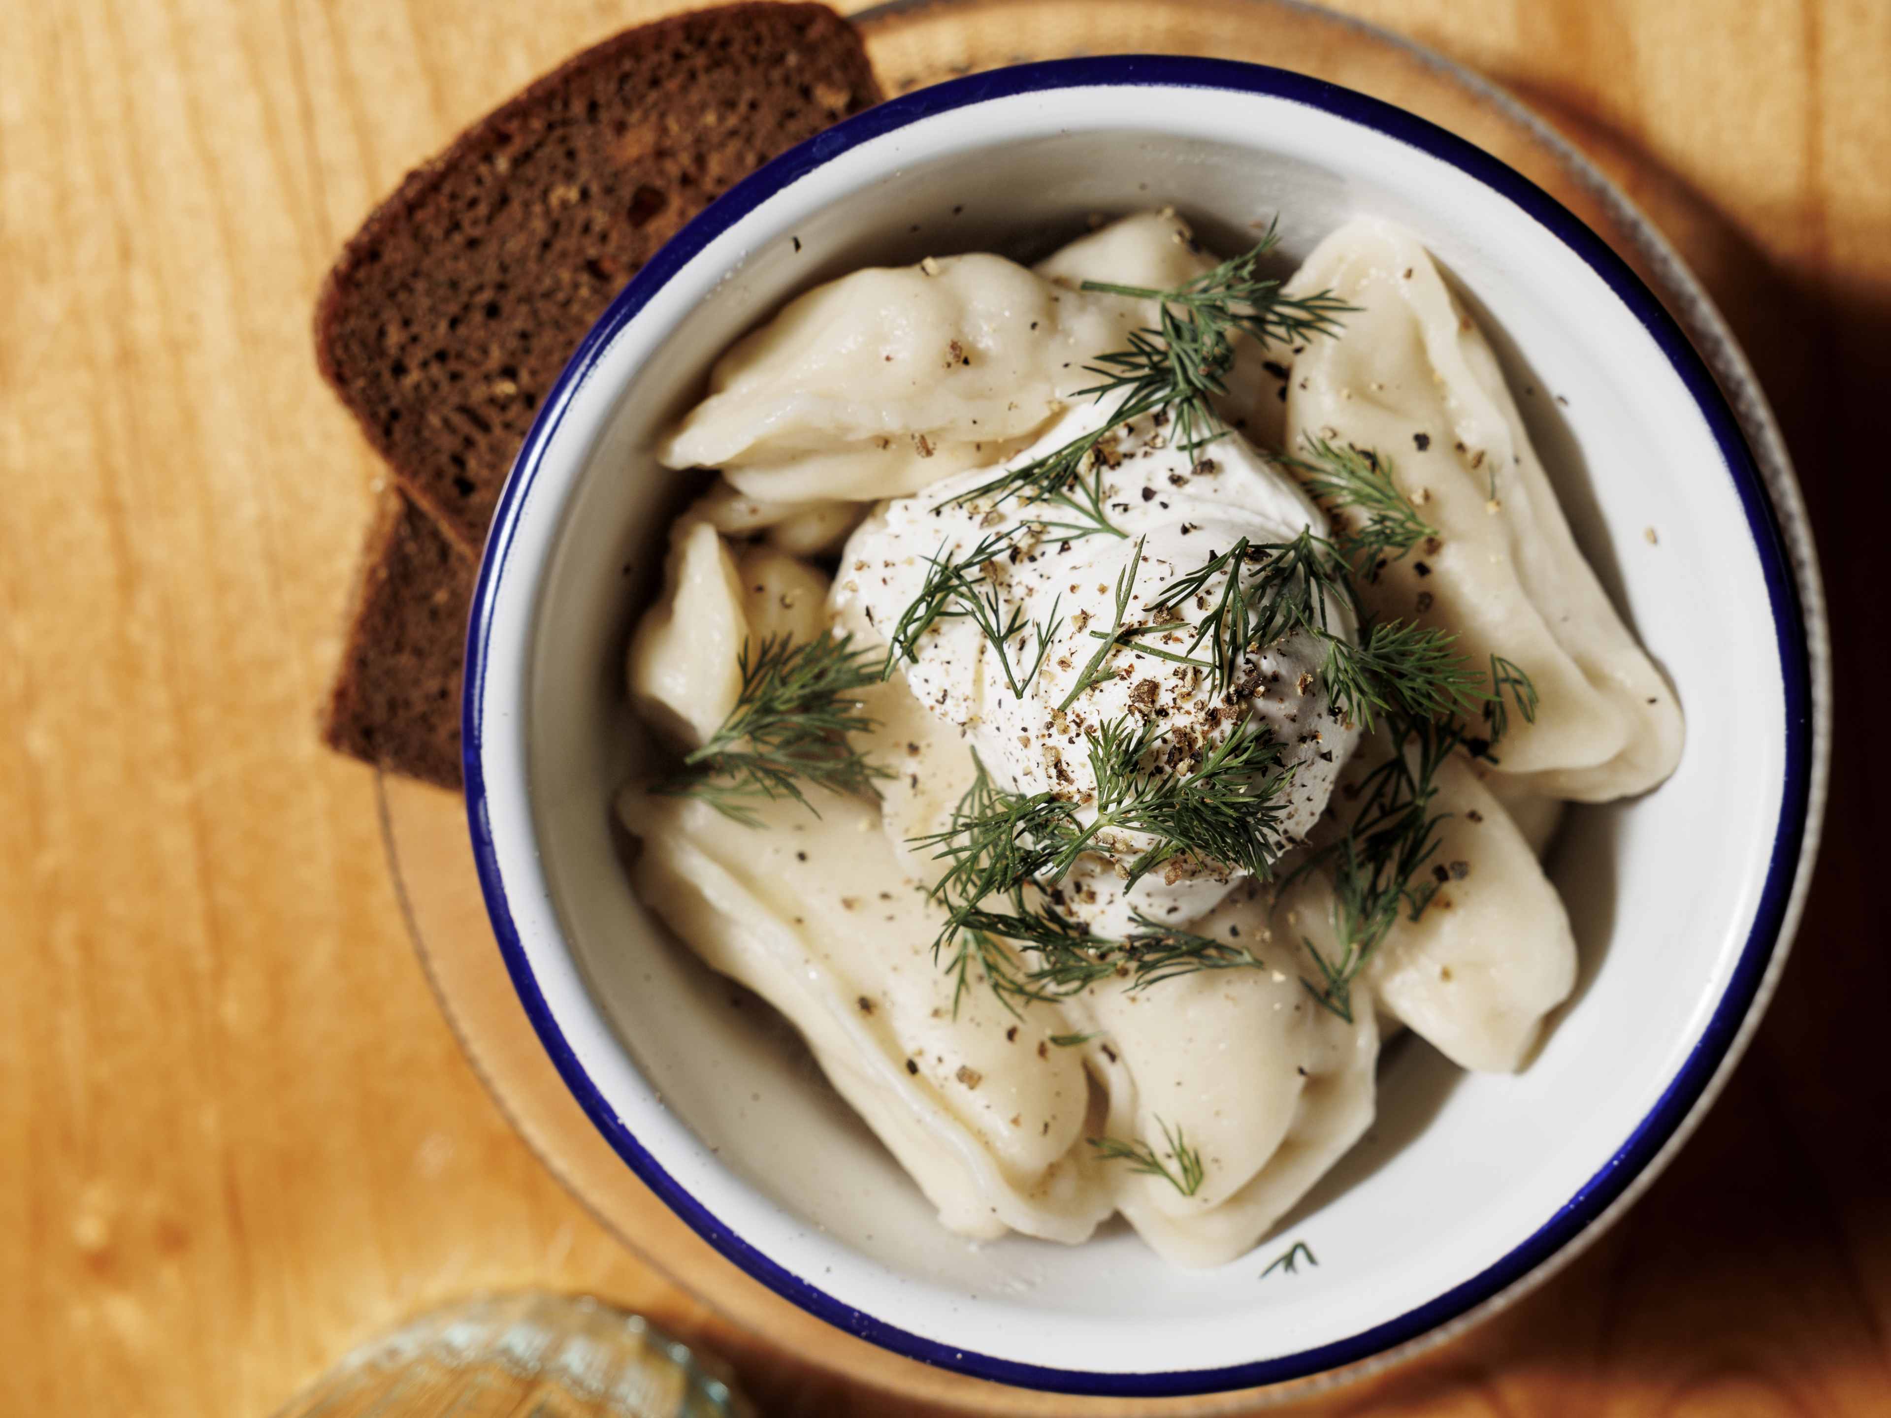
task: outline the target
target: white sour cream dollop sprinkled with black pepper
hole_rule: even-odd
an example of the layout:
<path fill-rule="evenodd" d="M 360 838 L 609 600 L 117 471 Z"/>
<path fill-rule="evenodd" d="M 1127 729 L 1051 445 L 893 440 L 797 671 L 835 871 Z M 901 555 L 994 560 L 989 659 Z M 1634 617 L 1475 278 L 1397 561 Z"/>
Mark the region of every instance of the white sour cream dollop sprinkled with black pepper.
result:
<path fill-rule="evenodd" d="M 1068 444 L 1108 414 L 1108 403 L 1072 408 L 1008 465 Z M 968 616 L 942 618 L 904 664 L 913 696 L 964 730 L 1000 788 L 1059 794 L 1078 804 L 1085 821 L 1095 817 L 1097 792 L 1087 735 L 1102 724 L 1125 720 L 1159 730 L 1144 764 L 1167 771 L 1189 771 L 1229 734 L 1269 732 L 1282 745 L 1282 768 L 1292 770 L 1278 832 L 1295 841 L 1326 811 L 1358 737 L 1327 700 L 1320 675 L 1324 647 L 1293 635 L 1244 654 L 1229 686 L 1218 684 L 1214 673 L 1136 647 L 1186 652 L 1191 624 L 1214 603 L 1225 573 L 1174 611 L 1163 611 L 1154 603 L 1171 582 L 1201 571 L 1242 537 L 1250 546 L 1265 546 L 1292 541 L 1307 527 L 1326 535 L 1326 518 L 1240 433 L 1229 431 L 1197 450 L 1171 442 L 1169 433 L 1163 422 L 1140 418 L 1102 446 L 1104 510 L 1121 537 L 1036 527 L 1034 518 L 1076 520 L 1046 505 L 959 501 L 991 482 L 998 467 L 959 473 L 883 503 L 847 541 L 832 611 L 843 628 L 887 639 L 921 596 L 936 560 L 963 560 L 980 541 L 1012 533 L 1006 550 L 978 573 L 980 588 L 995 596 L 1000 624 L 1010 622 L 1014 609 L 1031 624 L 1006 643 L 1014 677 L 1036 660 L 1038 628 L 1055 620 L 1042 667 L 1017 696 L 985 631 Z M 1125 582 L 1131 590 L 1123 626 L 1174 622 L 1176 611 L 1182 622 L 1110 650 L 1101 666 L 1108 677 L 1070 698 L 1104 643 L 1099 635 L 1116 626 L 1118 586 Z M 1327 614 L 1335 631 L 1352 637 L 1352 620 L 1341 605 L 1329 601 Z M 1205 656 L 1206 647 L 1195 650 L 1195 658 Z M 1138 917 L 1184 926 L 1212 911 L 1240 879 L 1220 864 L 1174 858 L 1127 887 L 1127 864 L 1150 839 L 1118 832 L 1110 841 L 1118 851 L 1084 855 L 1055 883 L 1061 908 L 1099 934 L 1129 934 Z"/>

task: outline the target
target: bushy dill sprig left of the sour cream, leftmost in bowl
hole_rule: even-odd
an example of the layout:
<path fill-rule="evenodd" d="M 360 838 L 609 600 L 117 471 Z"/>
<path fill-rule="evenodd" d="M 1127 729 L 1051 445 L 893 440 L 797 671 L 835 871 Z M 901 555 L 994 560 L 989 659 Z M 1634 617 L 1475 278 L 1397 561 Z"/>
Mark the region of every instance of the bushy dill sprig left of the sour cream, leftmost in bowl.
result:
<path fill-rule="evenodd" d="M 804 781 L 830 792 L 874 792 L 874 779 L 889 773 L 847 735 L 874 728 L 851 696 L 879 679 L 870 664 L 876 654 L 834 631 L 811 641 L 768 635 L 758 647 L 743 641 L 736 707 L 656 792 L 702 798 L 745 826 L 760 826 L 747 805 L 756 798 L 792 798 L 819 817 Z"/>

